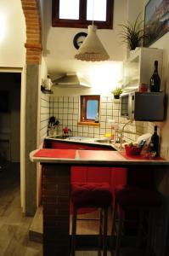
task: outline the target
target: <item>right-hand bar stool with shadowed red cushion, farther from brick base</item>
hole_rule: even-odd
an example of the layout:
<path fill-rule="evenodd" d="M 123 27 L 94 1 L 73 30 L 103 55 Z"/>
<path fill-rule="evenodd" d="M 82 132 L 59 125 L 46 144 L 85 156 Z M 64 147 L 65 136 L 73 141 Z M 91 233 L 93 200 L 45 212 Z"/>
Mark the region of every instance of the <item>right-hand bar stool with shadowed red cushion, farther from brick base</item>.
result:
<path fill-rule="evenodd" d="M 115 189 L 115 201 L 113 209 L 113 226 L 112 226 L 112 236 L 115 235 L 115 220 L 118 219 L 117 237 L 115 244 L 115 256 L 120 255 L 121 247 L 121 235 L 124 221 L 124 212 L 126 210 L 137 210 L 139 212 L 139 224 L 138 224 L 138 241 L 136 245 L 139 244 L 140 237 L 142 236 L 142 224 L 143 224 L 143 213 L 144 211 L 149 212 L 149 222 L 148 222 L 148 234 L 146 241 L 146 256 L 151 255 L 151 235 L 152 235 L 152 225 L 154 219 L 154 213 L 158 207 L 161 206 L 161 194 L 154 190 L 148 188 L 132 187 L 127 185 L 118 186 Z M 119 210 L 119 218 L 117 218 L 117 210 Z"/>

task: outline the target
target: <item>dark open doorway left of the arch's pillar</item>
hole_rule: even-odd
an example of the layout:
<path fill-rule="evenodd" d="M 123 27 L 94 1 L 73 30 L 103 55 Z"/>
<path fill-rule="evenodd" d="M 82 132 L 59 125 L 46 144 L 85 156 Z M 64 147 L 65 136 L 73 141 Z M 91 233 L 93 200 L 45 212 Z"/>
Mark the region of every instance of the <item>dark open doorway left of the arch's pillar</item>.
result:
<path fill-rule="evenodd" d="M 21 73 L 0 73 L 0 176 L 1 189 L 20 189 Z"/>

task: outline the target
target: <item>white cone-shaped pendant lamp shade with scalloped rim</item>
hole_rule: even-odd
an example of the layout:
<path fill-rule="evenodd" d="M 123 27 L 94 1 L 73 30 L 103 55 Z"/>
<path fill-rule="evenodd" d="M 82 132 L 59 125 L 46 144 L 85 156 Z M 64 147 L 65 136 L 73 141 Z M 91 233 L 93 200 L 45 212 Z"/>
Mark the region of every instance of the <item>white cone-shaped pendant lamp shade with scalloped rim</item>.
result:
<path fill-rule="evenodd" d="M 75 58 L 81 61 L 107 61 L 110 56 L 96 34 L 97 26 L 88 26 L 87 38 L 77 50 Z"/>

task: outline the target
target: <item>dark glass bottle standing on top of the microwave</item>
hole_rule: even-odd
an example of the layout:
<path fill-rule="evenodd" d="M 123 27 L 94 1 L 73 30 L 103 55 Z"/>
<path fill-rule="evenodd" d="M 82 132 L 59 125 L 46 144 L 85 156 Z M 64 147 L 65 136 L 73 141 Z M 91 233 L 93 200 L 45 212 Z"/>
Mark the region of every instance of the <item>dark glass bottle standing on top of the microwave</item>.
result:
<path fill-rule="evenodd" d="M 158 92 L 160 91 L 161 87 L 161 78 L 158 74 L 158 61 L 155 61 L 155 69 L 154 73 L 152 74 L 152 77 L 150 79 L 150 91 Z"/>

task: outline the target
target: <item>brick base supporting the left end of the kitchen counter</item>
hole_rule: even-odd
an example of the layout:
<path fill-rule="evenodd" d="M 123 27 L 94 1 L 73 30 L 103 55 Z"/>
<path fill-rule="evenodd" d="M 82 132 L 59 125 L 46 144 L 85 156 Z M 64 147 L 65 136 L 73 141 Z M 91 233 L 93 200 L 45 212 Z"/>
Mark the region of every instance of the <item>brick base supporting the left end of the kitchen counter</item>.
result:
<path fill-rule="evenodd" d="M 43 255 L 70 255 L 70 166 L 42 165 Z"/>

